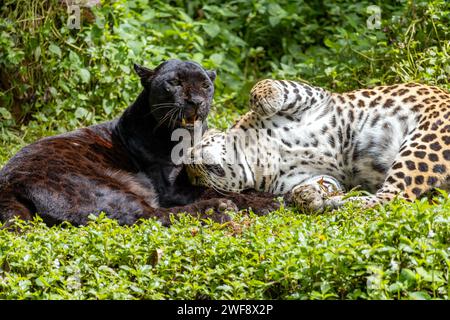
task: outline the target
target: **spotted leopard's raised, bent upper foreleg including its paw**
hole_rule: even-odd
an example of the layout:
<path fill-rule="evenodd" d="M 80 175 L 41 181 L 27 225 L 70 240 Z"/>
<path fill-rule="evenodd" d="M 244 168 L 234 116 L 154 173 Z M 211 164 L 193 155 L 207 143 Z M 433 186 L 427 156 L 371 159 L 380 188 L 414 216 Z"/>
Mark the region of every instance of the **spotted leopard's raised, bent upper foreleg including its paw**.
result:
<path fill-rule="evenodd" d="M 324 105 L 330 94 L 322 88 L 289 80 L 261 80 L 250 92 L 250 109 L 263 117 L 289 115 Z"/>

